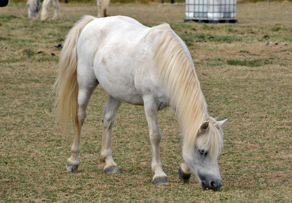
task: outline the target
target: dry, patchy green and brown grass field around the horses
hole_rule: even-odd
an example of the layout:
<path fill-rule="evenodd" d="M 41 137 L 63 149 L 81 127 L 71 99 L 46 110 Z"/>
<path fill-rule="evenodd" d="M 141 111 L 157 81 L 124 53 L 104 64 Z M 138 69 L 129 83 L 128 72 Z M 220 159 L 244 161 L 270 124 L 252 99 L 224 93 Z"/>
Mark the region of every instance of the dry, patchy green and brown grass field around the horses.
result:
<path fill-rule="evenodd" d="M 24 3 L 0 8 L 0 202 L 291 202 L 291 10 L 291 2 L 238 4 L 237 24 L 198 24 L 183 22 L 183 5 L 109 7 L 109 15 L 146 26 L 168 22 L 189 47 L 209 114 L 229 119 L 218 158 L 223 187 L 214 192 L 193 175 L 188 183 L 178 178 L 181 131 L 167 109 L 159 124 L 169 184 L 153 185 L 144 108 L 129 104 L 113 128 L 121 174 L 105 174 L 98 158 L 108 95 L 100 85 L 83 127 L 79 172 L 67 173 L 73 139 L 53 126 L 50 97 L 55 46 L 78 16 L 96 15 L 96 5 L 61 3 L 62 19 L 44 22 L 30 21 Z"/>

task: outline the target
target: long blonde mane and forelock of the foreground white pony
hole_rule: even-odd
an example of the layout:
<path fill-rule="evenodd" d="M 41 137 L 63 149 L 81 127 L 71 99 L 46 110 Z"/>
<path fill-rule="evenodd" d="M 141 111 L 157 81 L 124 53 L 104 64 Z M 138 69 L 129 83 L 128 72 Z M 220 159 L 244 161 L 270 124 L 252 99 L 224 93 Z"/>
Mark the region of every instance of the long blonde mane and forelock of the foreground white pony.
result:
<path fill-rule="evenodd" d="M 196 147 L 207 149 L 208 153 L 217 156 L 223 147 L 222 131 L 218 122 L 208 115 L 190 57 L 169 24 L 164 23 L 153 29 L 159 29 L 161 33 L 155 51 L 155 67 L 159 69 L 161 86 L 182 127 L 183 144 L 194 147 L 201 124 L 208 120 L 208 133 Z"/>

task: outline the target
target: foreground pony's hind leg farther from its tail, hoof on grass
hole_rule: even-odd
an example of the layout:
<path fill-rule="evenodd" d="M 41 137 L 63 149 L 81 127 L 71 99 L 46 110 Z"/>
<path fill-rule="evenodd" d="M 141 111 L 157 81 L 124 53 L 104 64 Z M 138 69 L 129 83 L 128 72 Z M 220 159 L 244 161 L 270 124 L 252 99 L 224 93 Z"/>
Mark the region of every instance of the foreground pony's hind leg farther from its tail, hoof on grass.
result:
<path fill-rule="evenodd" d="M 100 152 L 100 164 L 105 164 L 103 168 L 106 173 L 120 173 L 117 164 L 112 159 L 112 127 L 116 120 L 117 112 L 122 102 L 109 95 L 107 105 L 103 110 L 103 131 Z"/>

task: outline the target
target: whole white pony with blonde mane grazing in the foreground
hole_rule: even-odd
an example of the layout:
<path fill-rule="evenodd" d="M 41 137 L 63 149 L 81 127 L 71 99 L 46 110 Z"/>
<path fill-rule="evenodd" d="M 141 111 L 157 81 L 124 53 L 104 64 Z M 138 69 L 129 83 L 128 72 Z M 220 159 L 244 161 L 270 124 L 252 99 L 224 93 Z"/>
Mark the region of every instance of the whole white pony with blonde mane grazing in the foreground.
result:
<path fill-rule="evenodd" d="M 183 159 L 178 171 L 183 181 L 194 172 L 206 189 L 219 190 L 222 179 L 217 157 L 223 147 L 222 126 L 207 112 L 194 64 L 185 43 L 166 23 L 145 27 L 125 16 L 84 16 L 66 36 L 60 55 L 57 122 L 64 131 L 74 126 L 69 172 L 77 172 L 80 134 L 91 95 L 100 84 L 109 93 L 103 110 L 100 164 L 106 173 L 119 173 L 112 158 L 111 134 L 123 102 L 144 105 L 152 144 L 154 184 L 168 183 L 159 157 L 161 133 L 157 112 L 175 109 L 183 132 Z"/>

